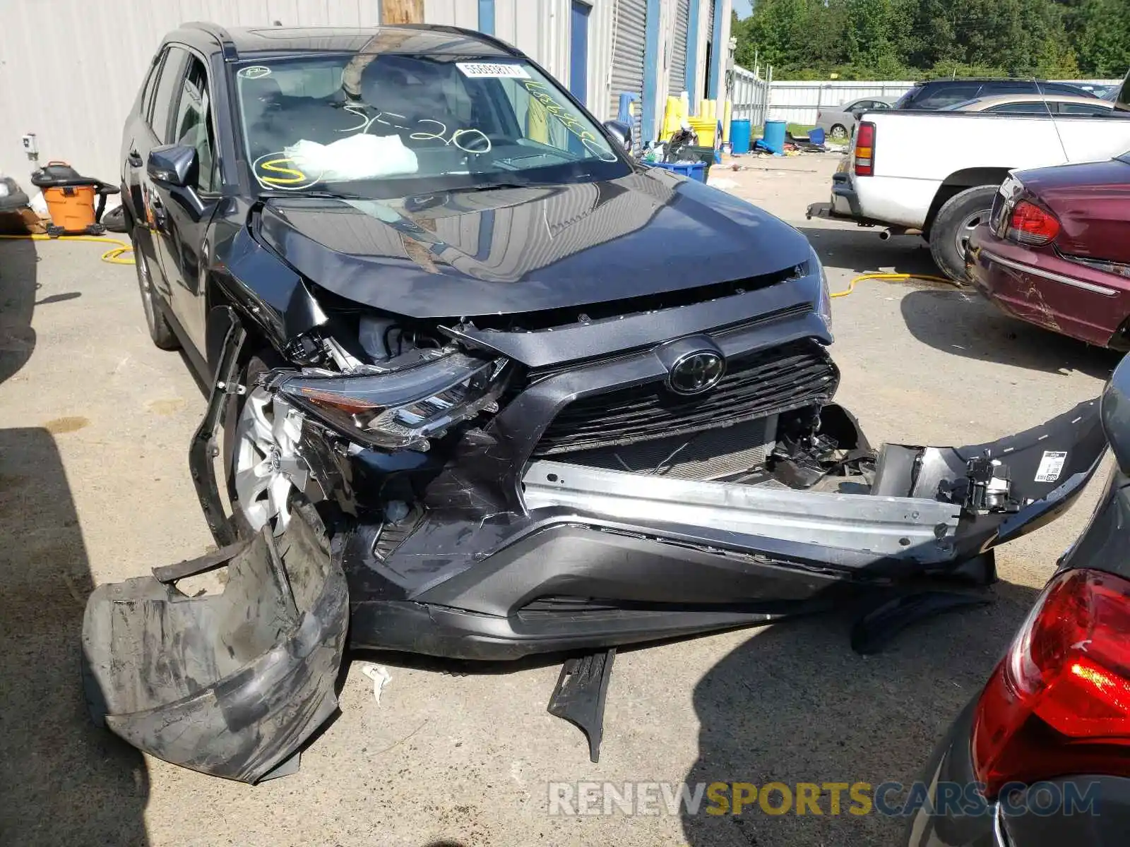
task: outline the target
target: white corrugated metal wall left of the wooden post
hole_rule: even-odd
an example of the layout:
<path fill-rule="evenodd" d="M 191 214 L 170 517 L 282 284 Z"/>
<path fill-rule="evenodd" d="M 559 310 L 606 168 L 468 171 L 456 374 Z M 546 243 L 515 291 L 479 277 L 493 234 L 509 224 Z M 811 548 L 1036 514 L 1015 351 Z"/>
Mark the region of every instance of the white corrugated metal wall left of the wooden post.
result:
<path fill-rule="evenodd" d="M 41 163 L 67 159 L 116 183 L 125 115 L 162 37 L 183 21 L 372 26 L 380 16 L 380 0 L 0 0 L 0 173 L 31 189 L 20 137 L 34 132 Z"/>

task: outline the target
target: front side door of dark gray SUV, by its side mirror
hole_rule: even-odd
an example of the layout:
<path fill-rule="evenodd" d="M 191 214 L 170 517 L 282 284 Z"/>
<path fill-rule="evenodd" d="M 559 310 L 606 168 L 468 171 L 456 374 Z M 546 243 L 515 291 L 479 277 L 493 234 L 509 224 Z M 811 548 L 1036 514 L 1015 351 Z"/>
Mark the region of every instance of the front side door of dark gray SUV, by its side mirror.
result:
<path fill-rule="evenodd" d="M 173 314 L 201 355 L 205 353 L 203 294 L 210 250 L 207 234 L 219 199 L 219 160 L 210 90 L 202 58 L 189 53 L 184 73 L 175 88 L 165 138 L 166 143 L 195 150 L 194 180 L 186 187 L 154 187 L 154 203 L 159 210 L 158 252 L 172 291 Z"/>

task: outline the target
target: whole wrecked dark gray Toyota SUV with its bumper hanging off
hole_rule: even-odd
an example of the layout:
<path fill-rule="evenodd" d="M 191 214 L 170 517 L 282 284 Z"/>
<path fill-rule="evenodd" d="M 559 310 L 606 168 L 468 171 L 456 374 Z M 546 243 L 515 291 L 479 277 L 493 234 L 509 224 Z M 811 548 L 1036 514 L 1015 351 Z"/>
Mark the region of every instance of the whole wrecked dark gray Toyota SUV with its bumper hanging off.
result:
<path fill-rule="evenodd" d="M 596 756 L 615 646 L 868 593 L 888 631 L 1080 491 L 1095 403 L 872 449 L 832 402 L 808 242 L 628 140 L 477 33 L 167 36 L 122 193 L 153 339 L 211 388 L 190 470 L 220 549 L 94 593 L 96 719 L 199 770 L 285 772 L 348 631 L 580 655 L 550 710 Z M 221 567 L 219 593 L 176 587 Z"/>

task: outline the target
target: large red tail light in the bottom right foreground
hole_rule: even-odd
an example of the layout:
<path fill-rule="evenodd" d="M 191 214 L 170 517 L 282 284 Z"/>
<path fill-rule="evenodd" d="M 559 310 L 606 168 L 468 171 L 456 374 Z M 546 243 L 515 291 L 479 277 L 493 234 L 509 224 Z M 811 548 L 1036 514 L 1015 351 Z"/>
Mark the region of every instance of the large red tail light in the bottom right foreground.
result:
<path fill-rule="evenodd" d="M 1068 570 L 1044 590 L 977 701 L 973 767 L 1009 781 L 1130 777 L 1130 580 Z"/>

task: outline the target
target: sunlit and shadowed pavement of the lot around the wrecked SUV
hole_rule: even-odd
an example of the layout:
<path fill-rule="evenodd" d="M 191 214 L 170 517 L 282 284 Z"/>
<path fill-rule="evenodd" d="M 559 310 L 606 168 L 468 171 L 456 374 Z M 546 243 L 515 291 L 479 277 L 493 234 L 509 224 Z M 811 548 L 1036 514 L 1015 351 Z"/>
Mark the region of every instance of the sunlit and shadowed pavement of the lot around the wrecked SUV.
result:
<path fill-rule="evenodd" d="M 715 173 L 796 224 L 834 290 L 933 273 L 918 238 L 806 222 L 834 156 Z M 551 817 L 550 781 L 910 781 L 981 684 L 1097 496 L 998 556 L 998 602 L 861 657 L 849 612 L 617 657 L 599 765 L 549 716 L 556 664 L 473 672 L 403 656 L 380 705 L 356 663 L 298 775 L 259 787 L 144 758 L 94 728 L 78 678 L 94 584 L 205 552 L 186 471 L 203 398 L 146 334 L 133 270 L 89 244 L 0 242 L 0 842 L 11 845 L 876 845 L 875 814 Z M 834 300 L 841 402 L 872 443 L 976 443 L 1098 393 L 1116 357 L 948 286 Z M 1105 474 L 1104 474 L 1105 475 Z M 468 673 L 468 670 L 472 672 Z M 452 671 L 455 671 L 453 673 Z"/>

